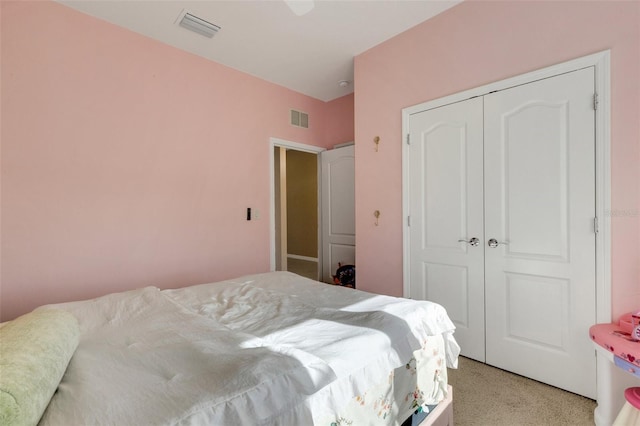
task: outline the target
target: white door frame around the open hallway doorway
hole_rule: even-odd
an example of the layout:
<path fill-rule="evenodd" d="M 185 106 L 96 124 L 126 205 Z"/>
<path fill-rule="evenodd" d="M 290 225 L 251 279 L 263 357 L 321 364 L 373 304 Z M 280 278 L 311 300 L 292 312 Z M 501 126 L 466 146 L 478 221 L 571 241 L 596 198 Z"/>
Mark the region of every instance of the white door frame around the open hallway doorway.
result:
<path fill-rule="evenodd" d="M 282 147 L 282 148 L 286 148 L 286 149 L 293 149 L 295 151 L 302 151 L 302 152 L 308 152 L 311 154 L 320 154 L 322 151 L 326 151 L 326 148 L 321 148 L 319 146 L 314 146 L 314 145 L 306 145 L 303 143 L 299 143 L 299 142 L 292 142 L 292 141 L 287 141 L 284 139 L 278 139 L 278 138 L 269 138 L 269 239 L 270 239 L 270 243 L 269 243 L 269 247 L 270 247 L 270 254 L 269 254 L 269 270 L 270 271 L 275 271 L 276 270 L 276 205 L 275 205 L 275 193 L 276 193 L 276 189 L 275 189 L 275 172 L 274 172 L 274 166 L 275 166 L 275 159 L 274 159 L 274 148 L 275 147 Z M 320 205 L 320 156 L 318 155 L 318 218 L 320 218 L 320 212 L 321 212 L 321 205 Z M 321 222 L 320 220 L 318 220 L 318 247 L 322 247 L 322 241 L 321 241 Z M 318 265 L 322 264 L 322 253 L 318 252 Z"/>

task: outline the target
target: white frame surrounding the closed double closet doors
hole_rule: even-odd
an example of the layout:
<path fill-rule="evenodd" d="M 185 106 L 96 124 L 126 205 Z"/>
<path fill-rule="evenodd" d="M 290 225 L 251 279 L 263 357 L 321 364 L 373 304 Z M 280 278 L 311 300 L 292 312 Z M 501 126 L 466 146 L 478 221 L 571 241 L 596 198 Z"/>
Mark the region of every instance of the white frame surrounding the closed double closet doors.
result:
<path fill-rule="evenodd" d="M 527 84 L 543 78 L 553 77 L 593 66 L 595 68 L 596 101 L 596 321 L 611 322 L 611 217 L 606 212 L 611 211 L 611 77 L 610 51 L 594 53 L 592 55 L 573 59 L 557 65 L 532 71 L 516 77 L 490 83 L 474 89 L 465 90 L 443 98 L 424 102 L 402 110 L 402 208 L 404 223 L 403 237 L 403 294 L 409 297 L 410 286 L 410 253 L 409 253 L 409 150 L 407 145 L 409 134 L 409 117 L 428 109 L 460 102 L 474 96 L 486 95 L 489 92 L 503 90 L 510 87 Z M 585 331 L 586 333 L 586 331 Z"/>

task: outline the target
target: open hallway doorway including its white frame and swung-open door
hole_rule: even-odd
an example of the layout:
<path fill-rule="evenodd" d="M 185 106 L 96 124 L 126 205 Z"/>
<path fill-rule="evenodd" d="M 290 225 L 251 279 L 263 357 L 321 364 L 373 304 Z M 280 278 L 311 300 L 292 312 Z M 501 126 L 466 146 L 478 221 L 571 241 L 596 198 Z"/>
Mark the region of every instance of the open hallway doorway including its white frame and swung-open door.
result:
<path fill-rule="evenodd" d="M 335 148 L 271 138 L 272 271 L 333 283 L 355 265 L 355 150 Z"/>

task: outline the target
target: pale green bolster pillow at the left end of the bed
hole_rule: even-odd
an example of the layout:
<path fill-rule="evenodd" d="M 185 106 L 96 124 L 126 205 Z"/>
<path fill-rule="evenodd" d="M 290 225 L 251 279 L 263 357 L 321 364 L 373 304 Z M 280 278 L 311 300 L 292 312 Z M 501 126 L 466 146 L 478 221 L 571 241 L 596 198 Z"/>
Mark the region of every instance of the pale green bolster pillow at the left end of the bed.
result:
<path fill-rule="evenodd" d="M 0 424 L 36 425 L 58 388 L 80 336 L 60 309 L 35 311 L 0 327 Z"/>

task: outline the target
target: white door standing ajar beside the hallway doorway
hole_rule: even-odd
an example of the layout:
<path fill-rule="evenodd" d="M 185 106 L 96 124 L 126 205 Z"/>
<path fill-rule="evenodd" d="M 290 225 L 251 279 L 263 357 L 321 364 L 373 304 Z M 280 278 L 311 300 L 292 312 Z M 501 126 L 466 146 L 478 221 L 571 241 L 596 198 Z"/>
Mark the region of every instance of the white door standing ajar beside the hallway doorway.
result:
<path fill-rule="evenodd" d="M 321 279 L 333 282 L 332 274 L 335 274 L 339 263 L 354 265 L 356 260 L 355 147 L 323 151 L 320 161 Z"/>

